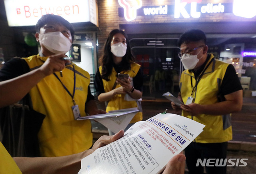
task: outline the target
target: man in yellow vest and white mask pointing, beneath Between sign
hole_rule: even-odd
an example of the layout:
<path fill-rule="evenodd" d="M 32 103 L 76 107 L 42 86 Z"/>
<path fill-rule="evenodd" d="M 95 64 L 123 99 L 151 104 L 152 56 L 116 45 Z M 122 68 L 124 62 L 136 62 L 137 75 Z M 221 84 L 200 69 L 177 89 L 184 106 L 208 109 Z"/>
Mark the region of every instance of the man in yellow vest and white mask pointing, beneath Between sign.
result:
<path fill-rule="evenodd" d="M 5 102 L 13 104 L 29 93 L 33 109 L 46 116 L 38 133 L 41 156 L 83 152 L 92 146 L 91 123 L 75 120 L 74 110 L 80 116 L 106 112 L 97 109 L 90 93 L 89 73 L 66 59 L 74 28 L 61 16 L 47 14 L 38 20 L 35 36 L 40 53 L 11 59 L 0 71 L 0 81 L 22 75 L 24 67 L 29 73 L 16 84 L 20 90 L 5 89 Z"/>

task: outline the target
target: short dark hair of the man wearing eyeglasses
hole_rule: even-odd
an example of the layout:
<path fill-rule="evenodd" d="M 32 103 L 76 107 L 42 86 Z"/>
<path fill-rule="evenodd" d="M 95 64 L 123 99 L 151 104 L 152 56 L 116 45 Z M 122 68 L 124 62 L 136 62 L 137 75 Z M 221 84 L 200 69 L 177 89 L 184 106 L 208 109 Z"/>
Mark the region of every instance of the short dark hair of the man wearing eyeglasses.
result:
<path fill-rule="evenodd" d="M 206 35 L 202 30 L 188 30 L 180 36 L 178 40 L 178 46 L 180 47 L 181 44 L 187 44 L 189 42 L 198 42 L 200 40 L 204 41 L 204 44 L 206 44 Z"/>

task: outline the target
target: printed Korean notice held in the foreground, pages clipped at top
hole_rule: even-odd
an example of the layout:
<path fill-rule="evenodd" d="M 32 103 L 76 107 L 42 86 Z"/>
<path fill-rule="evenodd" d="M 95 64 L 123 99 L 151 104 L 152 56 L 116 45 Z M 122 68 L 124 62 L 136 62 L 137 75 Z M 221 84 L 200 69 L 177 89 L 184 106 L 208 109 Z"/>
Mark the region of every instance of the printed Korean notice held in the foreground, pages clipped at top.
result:
<path fill-rule="evenodd" d="M 82 159 L 78 174 L 155 174 L 180 153 L 204 125 L 176 114 L 137 122 L 124 137 Z"/>

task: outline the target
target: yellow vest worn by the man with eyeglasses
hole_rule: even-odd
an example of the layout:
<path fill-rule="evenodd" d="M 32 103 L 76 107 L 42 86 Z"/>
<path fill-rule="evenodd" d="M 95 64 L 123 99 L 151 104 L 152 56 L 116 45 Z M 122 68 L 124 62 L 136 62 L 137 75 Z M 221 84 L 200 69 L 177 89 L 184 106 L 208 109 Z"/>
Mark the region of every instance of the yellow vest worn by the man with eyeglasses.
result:
<path fill-rule="evenodd" d="M 214 56 L 211 54 L 207 64 L 212 59 L 214 59 Z M 205 105 L 219 102 L 218 94 L 228 65 L 220 60 L 212 60 L 193 93 L 194 103 Z M 180 78 L 180 93 L 184 103 L 186 103 L 192 92 L 191 77 L 192 84 L 195 86 L 196 79 L 193 72 L 185 70 Z M 195 142 L 217 143 L 232 140 L 231 114 L 191 116 L 189 112 L 182 110 L 182 116 L 205 125 L 204 131 L 195 139 Z"/>

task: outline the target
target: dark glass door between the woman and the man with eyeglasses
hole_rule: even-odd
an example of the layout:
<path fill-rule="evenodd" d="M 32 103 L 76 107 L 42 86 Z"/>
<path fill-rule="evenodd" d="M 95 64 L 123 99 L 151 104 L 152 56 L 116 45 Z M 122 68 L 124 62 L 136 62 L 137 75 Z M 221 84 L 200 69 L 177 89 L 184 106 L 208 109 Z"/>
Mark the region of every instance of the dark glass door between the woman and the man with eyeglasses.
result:
<path fill-rule="evenodd" d="M 143 71 L 143 98 L 161 99 L 162 94 L 178 94 L 180 76 L 177 38 L 132 38 L 131 50 Z"/>

